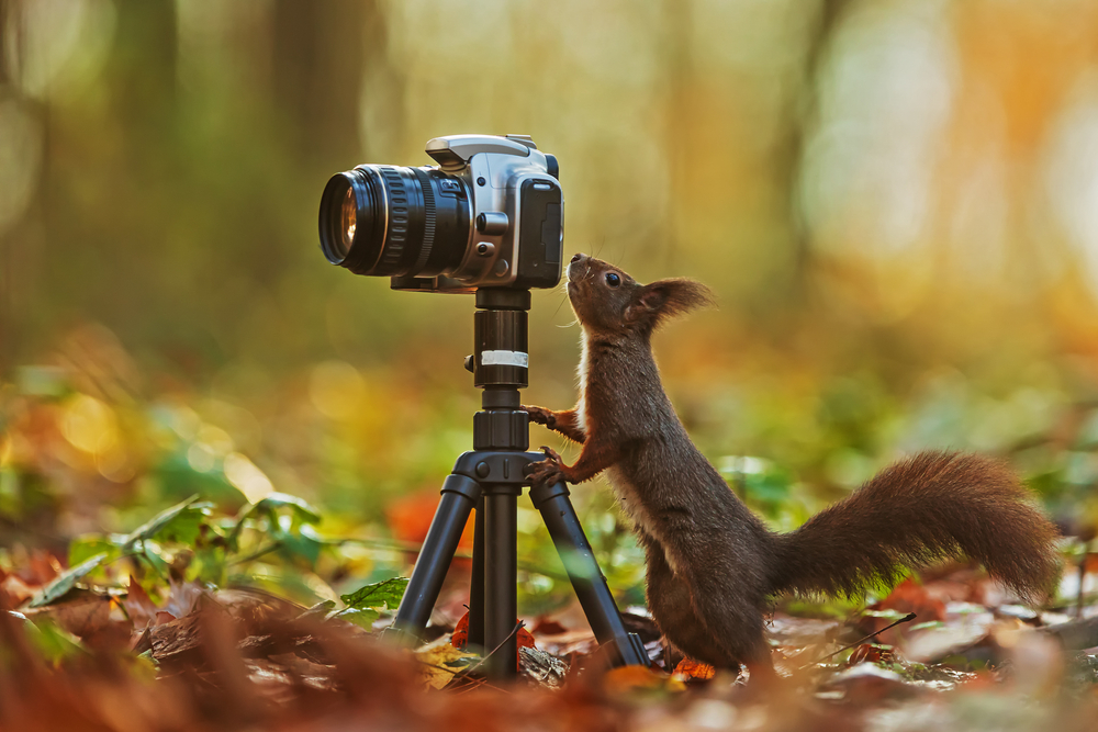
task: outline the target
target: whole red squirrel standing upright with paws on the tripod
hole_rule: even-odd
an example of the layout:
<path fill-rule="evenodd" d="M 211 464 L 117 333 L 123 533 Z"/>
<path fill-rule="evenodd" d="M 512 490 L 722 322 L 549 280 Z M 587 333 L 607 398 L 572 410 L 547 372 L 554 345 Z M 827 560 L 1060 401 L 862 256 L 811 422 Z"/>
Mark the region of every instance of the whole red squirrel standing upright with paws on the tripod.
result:
<path fill-rule="evenodd" d="M 716 667 L 772 674 L 763 615 L 774 595 L 854 595 L 905 566 L 968 556 L 1023 597 L 1057 575 L 1056 530 L 1005 465 L 923 452 L 887 468 L 799 529 L 776 533 L 729 489 L 691 441 L 663 391 L 651 336 L 712 304 L 692 280 L 640 284 L 575 255 L 568 296 L 583 328 L 572 409 L 524 406 L 530 420 L 580 442 L 565 465 L 549 448 L 535 484 L 581 483 L 607 471 L 648 564 L 648 605 L 664 639 Z"/>

